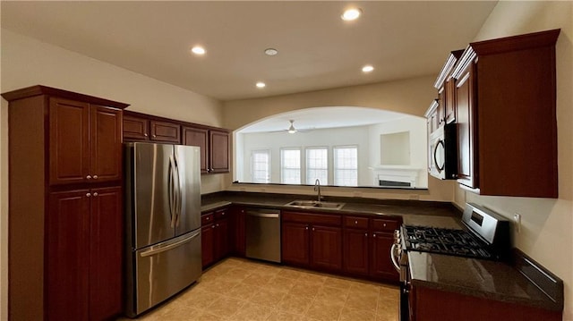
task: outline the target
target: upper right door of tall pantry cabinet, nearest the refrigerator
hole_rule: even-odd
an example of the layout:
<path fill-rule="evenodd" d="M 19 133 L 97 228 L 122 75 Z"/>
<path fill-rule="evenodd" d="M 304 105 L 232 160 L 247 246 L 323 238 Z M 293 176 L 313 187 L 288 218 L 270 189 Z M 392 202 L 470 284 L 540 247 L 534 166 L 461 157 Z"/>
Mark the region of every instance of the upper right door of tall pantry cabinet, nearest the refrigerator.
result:
<path fill-rule="evenodd" d="M 94 182 L 122 179 L 122 114 L 104 106 L 90 107 L 90 175 Z"/>

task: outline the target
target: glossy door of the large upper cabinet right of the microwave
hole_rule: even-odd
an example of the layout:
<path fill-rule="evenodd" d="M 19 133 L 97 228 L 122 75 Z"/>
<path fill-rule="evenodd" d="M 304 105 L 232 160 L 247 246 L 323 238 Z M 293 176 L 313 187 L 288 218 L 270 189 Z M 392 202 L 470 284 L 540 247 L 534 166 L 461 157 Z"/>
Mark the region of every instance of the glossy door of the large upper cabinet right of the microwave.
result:
<path fill-rule="evenodd" d="M 474 68 L 471 63 L 456 81 L 456 121 L 458 122 L 458 182 L 478 187 Z"/>

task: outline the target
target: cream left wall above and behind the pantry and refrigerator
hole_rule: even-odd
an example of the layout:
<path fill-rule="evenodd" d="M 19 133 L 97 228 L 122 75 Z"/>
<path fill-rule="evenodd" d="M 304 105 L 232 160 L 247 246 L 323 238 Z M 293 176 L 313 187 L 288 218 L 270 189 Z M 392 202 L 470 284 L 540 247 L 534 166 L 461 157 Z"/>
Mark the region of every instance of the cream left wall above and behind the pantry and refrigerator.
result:
<path fill-rule="evenodd" d="M 222 124 L 222 104 L 210 97 L 2 30 L 0 91 L 46 85 L 131 104 L 129 110 L 212 126 Z M 7 319 L 8 138 L 7 102 L 0 114 L 0 319 Z M 203 175 L 203 193 L 223 190 L 228 175 Z"/>

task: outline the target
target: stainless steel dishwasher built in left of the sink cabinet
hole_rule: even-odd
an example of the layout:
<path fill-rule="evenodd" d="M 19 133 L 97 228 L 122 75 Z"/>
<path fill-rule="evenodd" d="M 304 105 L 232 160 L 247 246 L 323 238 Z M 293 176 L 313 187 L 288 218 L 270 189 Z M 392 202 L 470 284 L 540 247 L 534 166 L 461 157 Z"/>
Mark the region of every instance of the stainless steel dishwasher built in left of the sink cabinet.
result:
<path fill-rule="evenodd" d="M 280 210 L 247 208 L 246 257 L 280 263 Z"/>

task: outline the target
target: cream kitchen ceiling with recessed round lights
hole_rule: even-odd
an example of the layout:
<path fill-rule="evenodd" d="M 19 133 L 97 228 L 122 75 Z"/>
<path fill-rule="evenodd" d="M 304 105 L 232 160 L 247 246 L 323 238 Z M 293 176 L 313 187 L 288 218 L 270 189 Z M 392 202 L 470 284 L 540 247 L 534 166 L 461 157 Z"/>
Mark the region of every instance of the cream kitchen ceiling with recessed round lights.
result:
<path fill-rule="evenodd" d="M 355 4 L 358 21 L 340 19 Z M 2 28 L 231 100 L 437 74 L 487 1 L 2 1 Z M 193 45 L 207 55 L 190 55 Z M 278 55 L 263 55 L 267 47 Z M 364 74 L 370 63 L 375 70 Z M 265 89 L 254 83 L 263 80 Z M 431 84 L 428 84 L 431 86 Z M 288 125 L 286 123 L 286 125 Z M 285 126 L 286 126 L 285 125 Z"/>

